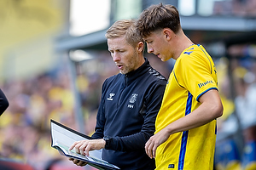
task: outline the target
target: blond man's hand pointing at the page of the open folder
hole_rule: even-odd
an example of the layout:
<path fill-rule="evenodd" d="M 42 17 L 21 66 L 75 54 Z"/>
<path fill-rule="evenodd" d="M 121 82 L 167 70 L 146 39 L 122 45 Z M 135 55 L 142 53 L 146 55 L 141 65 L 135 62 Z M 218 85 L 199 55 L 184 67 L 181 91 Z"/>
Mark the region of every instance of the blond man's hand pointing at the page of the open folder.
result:
<path fill-rule="evenodd" d="M 83 155 L 89 156 L 90 150 L 101 150 L 105 147 L 105 140 L 104 139 L 90 139 L 90 140 L 80 140 L 74 142 L 69 150 L 73 150 L 75 148 L 76 152 Z"/>

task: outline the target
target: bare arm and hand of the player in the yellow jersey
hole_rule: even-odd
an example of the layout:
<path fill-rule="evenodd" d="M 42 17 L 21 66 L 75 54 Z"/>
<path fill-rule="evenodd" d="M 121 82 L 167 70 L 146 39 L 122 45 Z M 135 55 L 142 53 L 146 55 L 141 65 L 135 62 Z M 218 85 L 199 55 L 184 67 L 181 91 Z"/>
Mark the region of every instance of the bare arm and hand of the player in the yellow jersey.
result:
<path fill-rule="evenodd" d="M 201 102 L 201 105 L 195 111 L 172 122 L 148 140 L 145 144 L 145 150 L 150 158 L 155 156 L 156 148 L 164 143 L 173 133 L 201 127 L 207 122 L 211 122 L 219 116 L 222 116 L 223 105 L 217 89 L 211 89 L 207 91 L 207 93 L 202 94 L 199 101 Z"/>

